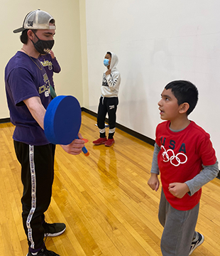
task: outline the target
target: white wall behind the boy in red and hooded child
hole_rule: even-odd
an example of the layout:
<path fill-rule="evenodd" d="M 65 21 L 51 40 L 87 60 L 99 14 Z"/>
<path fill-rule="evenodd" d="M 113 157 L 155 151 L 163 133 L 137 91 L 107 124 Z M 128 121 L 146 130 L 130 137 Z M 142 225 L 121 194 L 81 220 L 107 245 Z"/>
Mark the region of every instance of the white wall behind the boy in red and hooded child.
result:
<path fill-rule="evenodd" d="M 219 9 L 219 0 L 86 0 L 89 109 L 97 112 L 107 50 L 119 56 L 117 122 L 152 139 L 163 88 L 190 80 L 199 103 L 189 118 L 220 159 Z"/>

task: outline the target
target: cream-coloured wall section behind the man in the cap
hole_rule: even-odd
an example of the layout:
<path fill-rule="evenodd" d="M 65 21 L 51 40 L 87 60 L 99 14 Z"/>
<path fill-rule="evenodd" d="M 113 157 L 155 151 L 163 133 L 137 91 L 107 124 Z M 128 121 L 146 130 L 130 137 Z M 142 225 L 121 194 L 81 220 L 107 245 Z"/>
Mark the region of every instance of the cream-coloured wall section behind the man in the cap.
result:
<path fill-rule="evenodd" d="M 56 21 L 55 46 L 53 50 L 61 66 L 61 73 L 54 74 L 58 95 L 74 95 L 80 105 L 88 105 L 83 92 L 87 92 L 87 54 L 84 0 L 28 1 L 7 0 L 1 2 L 1 80 L 0 80 L 0 119 L 9 117 L 4 90 L 4 68 L 9 59 L 20 50 L 21 33 L 13 33 L 20 28 L 29 11 L 48 11 Z M 82 55 L 83 52 L 83 55 Z M 83 58 L 82 58 L 83 57 Z M 82 78 L 82 68 L 83 75 Z M 84 93 L 86 95 L 86 93 Z"/>

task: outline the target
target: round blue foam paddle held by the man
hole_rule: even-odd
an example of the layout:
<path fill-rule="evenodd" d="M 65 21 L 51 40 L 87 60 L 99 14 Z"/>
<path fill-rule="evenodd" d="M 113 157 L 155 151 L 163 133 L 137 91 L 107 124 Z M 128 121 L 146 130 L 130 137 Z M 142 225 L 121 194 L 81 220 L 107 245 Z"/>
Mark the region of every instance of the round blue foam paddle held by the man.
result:
<path fill-rule="evenodd" d="M 73 96 L 55 97 L 45 112 L 44 132 L 48 141 L 53 144 L 70 144 L 77 139 L 81 126 L 81 107 Z M 84 147 L 85 155 L 89 152 Z"/>

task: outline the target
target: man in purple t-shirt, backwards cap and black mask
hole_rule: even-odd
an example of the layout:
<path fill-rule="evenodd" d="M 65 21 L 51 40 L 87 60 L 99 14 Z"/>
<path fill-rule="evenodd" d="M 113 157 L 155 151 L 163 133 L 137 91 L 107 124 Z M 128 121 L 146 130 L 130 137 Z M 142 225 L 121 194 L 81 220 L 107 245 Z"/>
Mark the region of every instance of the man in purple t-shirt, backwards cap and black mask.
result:
<path fill-rule="evenodd" d="M 45 11 L 35 10 L 27 14 L 21 33 L 23 47 L 18 50 L 5 69 L 6 97 L 11 122 L 16 126 L 13 142 L 21 164 L 23 183 L 23 228 L 28 238 L 28 255 L 59 256 L 46 249 L 45 236 L 60 235 L 64 223 L 45 222 L 45 211 L 50 205 L 54 176 L 55 145 L 44 134 L 43 120 L 51 101 L 50 80 L 39 54 L 50 52 L 53 47 L 55 20 Z M 67 153 L 77 155 L 84 141 L 81 134 L 69 145 L 61 145 Z"/>

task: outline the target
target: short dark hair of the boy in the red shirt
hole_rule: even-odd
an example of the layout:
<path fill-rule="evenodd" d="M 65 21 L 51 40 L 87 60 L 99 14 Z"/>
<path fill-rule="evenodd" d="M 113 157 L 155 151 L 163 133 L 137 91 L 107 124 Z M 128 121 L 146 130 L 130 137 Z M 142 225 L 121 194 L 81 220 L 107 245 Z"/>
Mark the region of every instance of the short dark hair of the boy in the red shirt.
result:
<path fill-rule="evenodd" d="M 171 89 L 173 95 L 177 98 L 178 105 L 184 102 L 189 104 L 189 110 L 187 110 L 187 115 L 194 110 L 194 107 L 198 102 L 198 89 L 192 82 L 185 80 L 176 80 L 169 82 L 165 86 L 165 90 Z"/>

